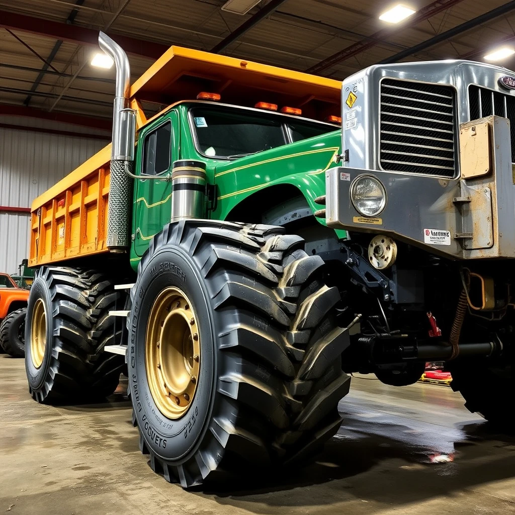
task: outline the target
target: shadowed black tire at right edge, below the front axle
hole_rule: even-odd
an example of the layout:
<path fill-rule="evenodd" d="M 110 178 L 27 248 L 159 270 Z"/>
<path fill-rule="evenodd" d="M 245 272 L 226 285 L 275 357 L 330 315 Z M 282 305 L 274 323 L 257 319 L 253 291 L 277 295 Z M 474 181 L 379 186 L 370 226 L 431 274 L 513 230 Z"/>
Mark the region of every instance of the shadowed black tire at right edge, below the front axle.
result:
<path fill-rule="evenodd" d="M 485 367 L 479 362 L 452 362 L 451 387 L 465 399 L 465 407 L 501 429 L 513 431 L 513 419 L 508 400 L 515 395 L 513 366 Z"/>

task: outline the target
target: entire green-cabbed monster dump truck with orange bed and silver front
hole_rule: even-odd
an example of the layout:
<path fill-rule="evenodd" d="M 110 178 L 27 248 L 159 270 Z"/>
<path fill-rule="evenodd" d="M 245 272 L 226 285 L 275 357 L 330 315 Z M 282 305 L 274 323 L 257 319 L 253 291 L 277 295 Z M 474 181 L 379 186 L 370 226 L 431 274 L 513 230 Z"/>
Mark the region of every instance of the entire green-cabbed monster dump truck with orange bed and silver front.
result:
<path fill-rule="evenodd" d="M 184 488 L 308 462 L 353 372 L 445 362 L 510 429 L 515 76 L 340 82 L 172 46 L 130 85 L 99 44 L 112 143 L 32 204 L 35 400 L 107 395 L 127 366 L 141 452 Z"/>

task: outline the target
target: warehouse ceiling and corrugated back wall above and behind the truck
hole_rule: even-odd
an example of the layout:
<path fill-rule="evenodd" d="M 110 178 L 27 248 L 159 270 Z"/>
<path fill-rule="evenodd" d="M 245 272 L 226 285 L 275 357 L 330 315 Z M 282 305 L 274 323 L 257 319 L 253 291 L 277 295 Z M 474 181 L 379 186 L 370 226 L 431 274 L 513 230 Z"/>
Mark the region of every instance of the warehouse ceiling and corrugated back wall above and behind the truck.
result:
<path fill-rule="evenodd" d="M 417 2 L 415 14 L 390 25 L 372 1 L 276 0 L 234 12 L 247 4 L 228 10 L 221 0 L 160 0 L 149 12 L 143 0 L 0 3 L 0 130 L 20 145 L 2 138 L 0 227 L 16 244 L 0 250 L 0 269 L 14 273 L 27 257 L 19 235 L 31 201 L 110 141 L 113 70 L 91 65 L 99 29 L 119 36 L 132 82 L 170 45 L 342 80 L 381 62 L 482 61 L 514 37 L 514 6 L 497 0 Z M 62 157 L 49 151 L 46 158 L 38 145 Z"/>

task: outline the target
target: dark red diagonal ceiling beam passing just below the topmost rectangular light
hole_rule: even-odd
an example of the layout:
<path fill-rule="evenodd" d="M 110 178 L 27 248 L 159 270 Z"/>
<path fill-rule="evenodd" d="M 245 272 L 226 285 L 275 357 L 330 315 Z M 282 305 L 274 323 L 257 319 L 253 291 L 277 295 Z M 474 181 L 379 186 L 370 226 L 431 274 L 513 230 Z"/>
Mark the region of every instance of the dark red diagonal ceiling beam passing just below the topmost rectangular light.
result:
<path fill-rule="evenodd" d="M 420 22 L 423 22 L 427 20 L 428 18 L 431 18 L 432 16 L 435 16 L 441 11 L 445 11 L 449 9 L 450 7 L 455 6 L 456 4 L 459 4 L 460 2 L 463 2 L 463 0 L 435 0 L 435 2 L 432 2 L 431 4 L 423 7 L 419 11 L 417 11 L 416 14 L 413 16 L 410 16 L 408 18 L 409 20 L 409 26 L 413 27 L 417 25 Z M 307 73 L 320 73 L 324 70 L 327 70 L 327 68 L 330 68 L 331 66 L 334 66 L 335 64 L 338 64 L 342 61 L 345 61 L 347 59 L 350 59 L 351 57 L 354 57 L 358 54 L 362 54 L 365 52 L 365 50 L 368 50 L 369 48 L 374 47 L 378 43 L 381 42 L 381 40 L 391 37 L 396 33 L 399 33 L 403 30 L 406 30 L 406 24 L 401 24 L 401 26 L 397 28 L 386 28 L 379 30 L 377 32 L 374 32 L 369 38 L 372 38 L 372 41 L 367 39 L 362 39 L 360 41 L 357 41 L 356 43 L 353 43 L 352 45 L 348 46 L 347 48 L 344 48 L 343 50 L 340 50 L 339 52 L 336 52 L 336 54 L 333 54 L 332 56 L 329 56 L 327 59 L 324 59 L 323 61 L 320 61 L 318 64 L 315 64 L 314 66 L 311 66 L 310 68 L 307 68 Z"/>

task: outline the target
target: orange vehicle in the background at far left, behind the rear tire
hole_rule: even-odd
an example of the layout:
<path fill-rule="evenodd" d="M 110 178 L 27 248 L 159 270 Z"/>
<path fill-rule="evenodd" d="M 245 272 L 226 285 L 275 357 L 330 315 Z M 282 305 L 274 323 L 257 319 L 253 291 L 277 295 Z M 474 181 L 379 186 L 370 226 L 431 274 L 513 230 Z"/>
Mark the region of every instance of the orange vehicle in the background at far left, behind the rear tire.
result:
<path fill-rule="evenodd" d="M 0 273 L 0 349 L 25 356 L 25 316 L 29 291 L 19 288 L 8 273 Z"/>

